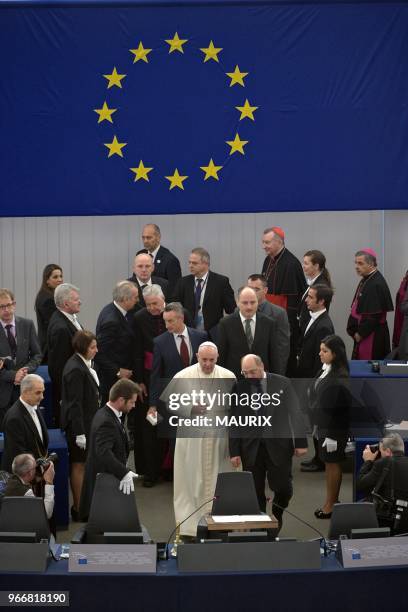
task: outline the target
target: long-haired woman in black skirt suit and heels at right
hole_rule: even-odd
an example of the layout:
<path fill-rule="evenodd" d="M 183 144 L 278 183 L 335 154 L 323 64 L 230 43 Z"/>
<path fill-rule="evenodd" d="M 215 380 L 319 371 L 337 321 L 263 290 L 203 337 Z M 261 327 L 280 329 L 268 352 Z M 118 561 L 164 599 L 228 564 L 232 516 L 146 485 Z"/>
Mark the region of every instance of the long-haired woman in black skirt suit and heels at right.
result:
<path fill-rule="evenodd" d="M 326 500 L 315 516 L 328 519 L 338 502 L 342 481 L 341 463 L 349 434 L 351 394 L 346 347 L 340 336 L 323 338 L 319 354 L 323 368 L 309 388 L 309 401 L 317 427 L 319 458 L 325 464 Z"/>

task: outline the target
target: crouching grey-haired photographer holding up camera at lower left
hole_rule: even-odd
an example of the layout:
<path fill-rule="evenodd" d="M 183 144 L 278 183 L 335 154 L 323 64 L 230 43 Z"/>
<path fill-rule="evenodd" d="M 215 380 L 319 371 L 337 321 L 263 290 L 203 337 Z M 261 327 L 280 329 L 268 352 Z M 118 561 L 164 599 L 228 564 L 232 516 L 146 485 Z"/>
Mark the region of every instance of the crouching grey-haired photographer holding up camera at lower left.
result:
<path fill-rule="evenodd" d="M 37 468 L 33 455 L 22 454 L 14 458 L 12 464 L 13 475 L 7 482 L 4 496 L 34 497 L 33 485 L 43 480 L 44 506 L 47 518 L 50 519 L 54 510 L 54 464 L 50 461 Z"/>

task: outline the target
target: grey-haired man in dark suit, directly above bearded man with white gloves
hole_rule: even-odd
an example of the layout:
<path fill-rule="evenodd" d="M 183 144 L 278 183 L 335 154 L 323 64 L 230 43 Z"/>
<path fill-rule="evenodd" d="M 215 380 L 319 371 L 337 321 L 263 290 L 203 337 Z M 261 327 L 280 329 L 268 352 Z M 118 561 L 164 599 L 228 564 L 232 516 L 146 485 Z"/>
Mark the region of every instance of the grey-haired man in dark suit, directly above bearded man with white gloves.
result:
<path fill-rule="evenodd" d="M 135 380 L 136 346 L 128 313 L 138 301 L 138 290 L 130 281 L 120 281 L 113 290 L 113 302 L 102 308 L 96 323 L 98 353 L 95 357 L 102 403 L 118 378 Z"/>

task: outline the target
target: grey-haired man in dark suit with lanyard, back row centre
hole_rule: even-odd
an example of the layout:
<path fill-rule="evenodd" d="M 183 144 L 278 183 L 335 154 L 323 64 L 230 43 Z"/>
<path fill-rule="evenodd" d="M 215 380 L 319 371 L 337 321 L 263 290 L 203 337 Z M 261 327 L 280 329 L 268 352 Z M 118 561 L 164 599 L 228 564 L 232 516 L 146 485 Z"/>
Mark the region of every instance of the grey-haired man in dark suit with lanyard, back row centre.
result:
<path fill-rule="evenodd" d="M 189 311 L 194 327 L 205 330 L 216 342 L 218 322 L 224 312 L 235 310 L 234 292 L 226 276 L 210 271 L 210 255 L 205 249 L 193 249 L 188 266 L 191 274 L 179 280 L 173 299 Z"/>

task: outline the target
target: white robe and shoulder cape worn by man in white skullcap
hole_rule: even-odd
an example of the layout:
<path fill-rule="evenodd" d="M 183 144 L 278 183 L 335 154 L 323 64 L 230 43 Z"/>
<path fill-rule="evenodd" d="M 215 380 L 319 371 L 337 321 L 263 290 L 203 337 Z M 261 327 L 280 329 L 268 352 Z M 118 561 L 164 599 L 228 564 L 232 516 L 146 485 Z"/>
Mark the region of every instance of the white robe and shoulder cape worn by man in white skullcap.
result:
<path fill-rule="evenodd" d="M 181 370 L 175 379 L 191 378 L 235 379 L 233 372 L 216 365 L 212 374 L 204 374 L 198 363 Z M 231 381 L 233 382 L 233 380 Z M 206 499 L 214 496 L 217 476 L 220 472 L 231 472 L 234 468 L 229 458 L 228 432 L 214 437 L 203 430 L 203 437 L 177 437 L 174 453 L 174 514 L 176 525 L 194 512 Z M 212 500 L 181 525 L 181 535 L 195 536 L 197 524 L 203 514 L 211 511 Z"/>

